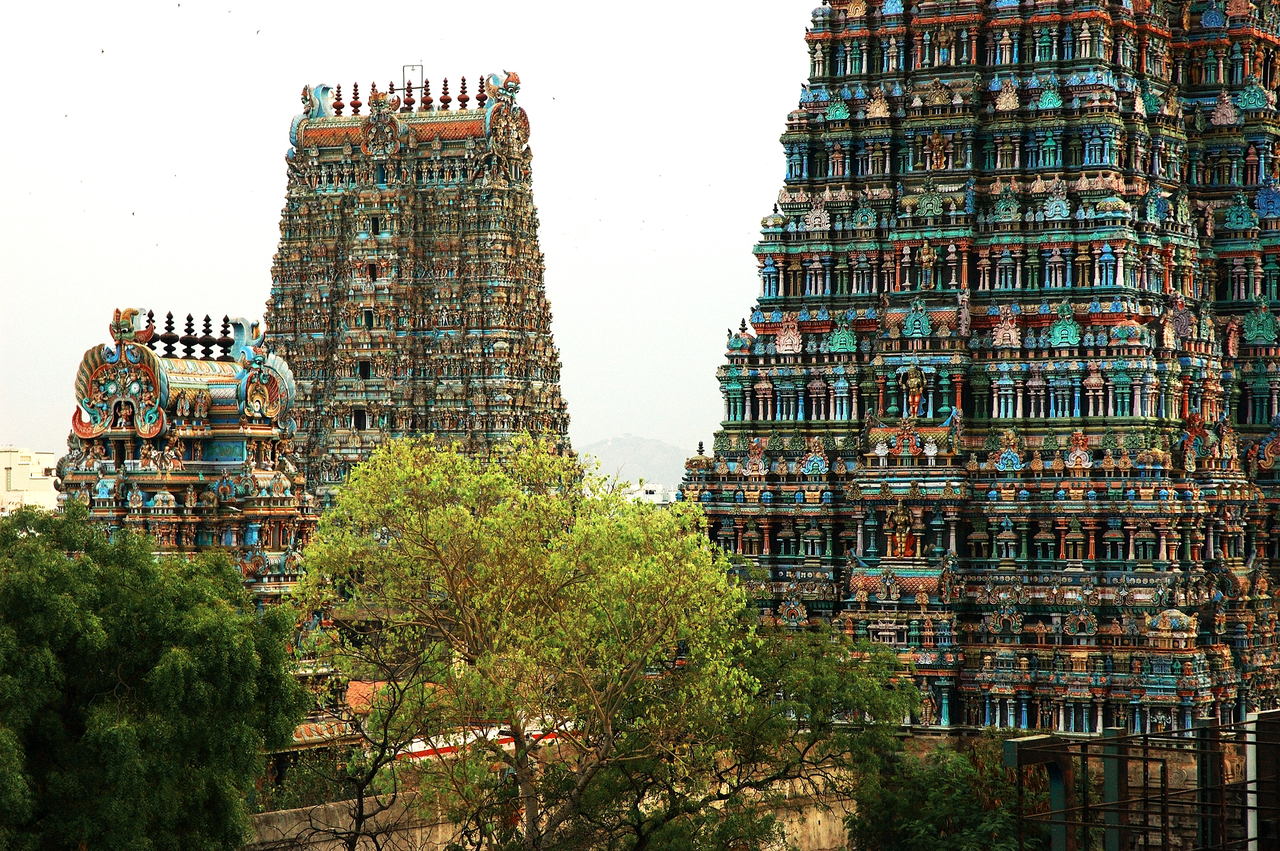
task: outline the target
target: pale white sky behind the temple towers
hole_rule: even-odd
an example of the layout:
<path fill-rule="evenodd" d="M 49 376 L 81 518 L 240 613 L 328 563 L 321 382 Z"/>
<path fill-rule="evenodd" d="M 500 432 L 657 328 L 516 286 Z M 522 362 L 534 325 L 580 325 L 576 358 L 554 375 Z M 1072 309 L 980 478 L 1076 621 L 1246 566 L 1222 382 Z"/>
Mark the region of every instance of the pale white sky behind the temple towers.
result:
<path fill-rule="evenodd" d="M 573 441 L 710 445 L 815 4 L 8 6 L 0 444 L 65 450 L 115 307 L 261 316 L 302 84 L 421 63 L 436 99 L 520 73 Z"/>

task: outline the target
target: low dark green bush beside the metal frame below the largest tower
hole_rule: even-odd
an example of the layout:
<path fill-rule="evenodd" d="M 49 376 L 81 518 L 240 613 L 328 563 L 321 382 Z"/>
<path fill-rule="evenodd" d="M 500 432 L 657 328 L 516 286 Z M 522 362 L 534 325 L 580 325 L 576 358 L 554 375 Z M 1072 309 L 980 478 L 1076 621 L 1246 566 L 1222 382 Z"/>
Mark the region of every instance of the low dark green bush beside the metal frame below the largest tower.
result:
<path fill-rule="evenodd" d="M 1043 809 L 1041 769 L 1023 769 L 1024 805 Z M 860 851 L 1018 851 L 1018 777 L 1004 768 L 1001 738 L 980 736 L 940 745 L 924 756 L 901 754 L 868 774 L 845 819 Z M 1047 848 L 1028 832 L 1028 851 Z"/>

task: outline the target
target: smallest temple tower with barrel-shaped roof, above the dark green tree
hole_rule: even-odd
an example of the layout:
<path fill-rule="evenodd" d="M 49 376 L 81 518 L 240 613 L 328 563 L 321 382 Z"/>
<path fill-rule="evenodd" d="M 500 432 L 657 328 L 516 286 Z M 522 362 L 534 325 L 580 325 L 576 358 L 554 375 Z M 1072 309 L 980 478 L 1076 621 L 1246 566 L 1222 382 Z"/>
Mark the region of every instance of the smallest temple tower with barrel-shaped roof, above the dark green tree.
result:
<path fill-rule="evenodd" d="M 161 553 L 228 549 L 259 601 L 279 600 L 317 520 L 293 456 L 293 374 L 257 322 L 224 317 L 214 337 L 207 316 L 182 335 L 173 314 L 163 333 L 142 319 L 115 311 L 114 343 L 84 352 L 59 499 Z"/>

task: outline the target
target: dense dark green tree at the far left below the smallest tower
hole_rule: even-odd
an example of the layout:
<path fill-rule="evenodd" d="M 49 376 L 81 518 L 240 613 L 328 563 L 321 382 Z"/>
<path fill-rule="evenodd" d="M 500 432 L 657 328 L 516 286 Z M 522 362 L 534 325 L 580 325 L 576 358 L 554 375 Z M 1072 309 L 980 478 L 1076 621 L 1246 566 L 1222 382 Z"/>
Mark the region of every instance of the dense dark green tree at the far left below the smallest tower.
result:
<path fill-rule="evenodd" d="M 0 520 L 0 848 L 238 848 L 306 695 L 293 614 L 230 561 L 157 561 L 86 509 Z"/>

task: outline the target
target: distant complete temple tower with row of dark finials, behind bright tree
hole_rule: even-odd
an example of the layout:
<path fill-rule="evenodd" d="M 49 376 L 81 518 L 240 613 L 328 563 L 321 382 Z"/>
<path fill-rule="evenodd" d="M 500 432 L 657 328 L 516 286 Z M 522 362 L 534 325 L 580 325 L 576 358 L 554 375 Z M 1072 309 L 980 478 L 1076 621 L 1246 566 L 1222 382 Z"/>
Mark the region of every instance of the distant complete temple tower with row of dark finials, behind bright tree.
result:
<path fill-rule="evenodd" d="M 325 499 L 388 436 L 485 453 L 567 444 L 520 78 L 396 93 L 305 87 L 293 119 L 268 344 L 298 383 L 297 449 Z M 416 106 L 415 106 L 416 105 Z M 349 114 L 344 110 L 349 107 Z"/>

